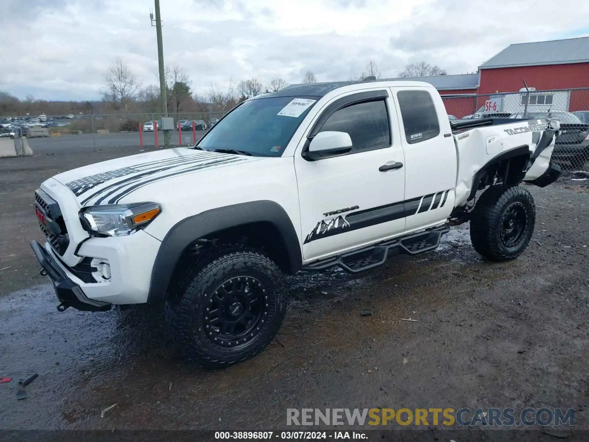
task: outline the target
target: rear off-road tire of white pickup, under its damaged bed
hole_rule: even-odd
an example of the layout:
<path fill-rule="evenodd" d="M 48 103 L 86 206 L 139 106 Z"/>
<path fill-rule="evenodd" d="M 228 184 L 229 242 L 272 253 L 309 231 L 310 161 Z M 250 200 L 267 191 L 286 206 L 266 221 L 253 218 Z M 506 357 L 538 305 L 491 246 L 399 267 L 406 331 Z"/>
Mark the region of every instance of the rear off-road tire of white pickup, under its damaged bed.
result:
<path fill-rule="evenodd" d="M 502 236 L 506 213 L 517 209 L 525 214 L 521 238 L 508 247 Z M 489 187 L 475 204 L 471 216 L 471 242 L 475 250 L 492 261 L 508 261 L 517 258 L 527 248 L 536 220 L 534 198 L 521 186 Z"/>

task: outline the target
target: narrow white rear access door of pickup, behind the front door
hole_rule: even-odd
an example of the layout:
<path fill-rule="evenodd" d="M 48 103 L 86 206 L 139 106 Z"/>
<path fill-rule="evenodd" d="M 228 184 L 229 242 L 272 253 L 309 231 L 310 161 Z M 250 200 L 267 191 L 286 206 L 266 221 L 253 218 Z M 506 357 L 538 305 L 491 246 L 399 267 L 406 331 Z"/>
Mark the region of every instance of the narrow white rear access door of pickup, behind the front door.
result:
<path fill-rule="evenodd" d="M 393 87 L 405 152 L 406 230 L 444 222 L 454 208 L 458 161 L 444 102 L 432 87 Z"/>

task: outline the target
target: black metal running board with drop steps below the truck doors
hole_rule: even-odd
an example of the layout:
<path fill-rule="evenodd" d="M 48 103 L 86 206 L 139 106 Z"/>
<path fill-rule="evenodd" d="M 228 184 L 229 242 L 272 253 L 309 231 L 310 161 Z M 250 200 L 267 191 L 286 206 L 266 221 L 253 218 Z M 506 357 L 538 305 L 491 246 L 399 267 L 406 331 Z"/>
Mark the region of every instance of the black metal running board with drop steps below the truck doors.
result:
<path fill-rule="evenodd" d="M 425 232 L 389 239 L 365 249 L 354 250 L 344 255 L 312 262 L 304 265 L 301 270 L 319 272 L 333 266 L 339 266 L 349 273 L 363 272 L 382 265 L 394 255 L 417 255 L 418 253 L 435 250 L 439 246 L 440 238 L 448 230 L 450 230 L 448 225 L 444 225 L 425 230 Z"/>

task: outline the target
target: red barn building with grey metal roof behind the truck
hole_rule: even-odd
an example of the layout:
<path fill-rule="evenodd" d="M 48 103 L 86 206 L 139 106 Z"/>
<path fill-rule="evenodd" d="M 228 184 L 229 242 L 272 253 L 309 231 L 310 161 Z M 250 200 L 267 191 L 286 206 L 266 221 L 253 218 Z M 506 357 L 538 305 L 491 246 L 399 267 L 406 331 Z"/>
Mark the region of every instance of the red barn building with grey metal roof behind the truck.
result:
<path fill-rule="evenodd" d="M 512 44 L 479 66 L 477 74 L 419 80 L 452 95 L 444 100 L 446 110 L 459 118 L 482 108 L 497 93 L 514 93 L 500 98 L 498 110 L 523 112 L 526 99 L 519 91 L 524 80 L 532 90 L 528 110 L 589 110 L 589 37 Z"/>

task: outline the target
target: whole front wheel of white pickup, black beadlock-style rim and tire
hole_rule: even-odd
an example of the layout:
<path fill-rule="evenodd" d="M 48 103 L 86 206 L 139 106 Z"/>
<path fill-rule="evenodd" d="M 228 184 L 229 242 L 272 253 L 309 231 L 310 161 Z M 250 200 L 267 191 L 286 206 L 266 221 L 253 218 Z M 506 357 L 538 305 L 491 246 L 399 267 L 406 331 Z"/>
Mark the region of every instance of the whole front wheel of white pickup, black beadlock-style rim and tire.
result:
<path fill-rule="evenodd" d="M 191 361 L 222 368 L 252 358 L 274 339 L 286 313 L 282 272 L 255 250 L 230 246 L 181 276 L 166 319 Z"/>

